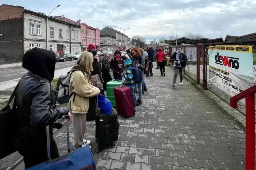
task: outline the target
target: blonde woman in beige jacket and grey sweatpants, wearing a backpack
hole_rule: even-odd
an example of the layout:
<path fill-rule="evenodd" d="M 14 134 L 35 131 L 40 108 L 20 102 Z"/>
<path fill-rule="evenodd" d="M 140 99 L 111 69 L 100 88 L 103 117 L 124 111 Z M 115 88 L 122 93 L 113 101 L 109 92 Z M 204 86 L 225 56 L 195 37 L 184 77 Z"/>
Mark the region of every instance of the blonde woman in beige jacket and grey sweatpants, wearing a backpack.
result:
<path fill-rule="evenodd" d="M 100 89 L 91 85 L 91 72 L 93 56 L 90 52 L 81 53 L 73 71 L 70 83 L 69 94 L 71 98 L 68 108 L 72 113 L 73 120 L 73 145 L 75 149 L 89 145 L 91 141 L 84 140 L 86 130 L 86 114 L 89 109 L 89 98 L 100 93 Z"/>

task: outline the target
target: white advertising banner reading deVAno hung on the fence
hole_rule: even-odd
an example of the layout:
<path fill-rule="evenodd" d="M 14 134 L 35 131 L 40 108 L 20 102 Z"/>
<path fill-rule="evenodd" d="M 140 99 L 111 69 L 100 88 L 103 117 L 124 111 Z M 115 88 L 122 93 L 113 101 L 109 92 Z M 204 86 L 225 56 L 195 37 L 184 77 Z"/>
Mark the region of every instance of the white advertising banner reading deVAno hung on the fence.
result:
<path fill-rule="evenodd" d="M 210 84 L 231 97 L 254 85 L 252 46 L 209 46 L 208 55 Z"/>

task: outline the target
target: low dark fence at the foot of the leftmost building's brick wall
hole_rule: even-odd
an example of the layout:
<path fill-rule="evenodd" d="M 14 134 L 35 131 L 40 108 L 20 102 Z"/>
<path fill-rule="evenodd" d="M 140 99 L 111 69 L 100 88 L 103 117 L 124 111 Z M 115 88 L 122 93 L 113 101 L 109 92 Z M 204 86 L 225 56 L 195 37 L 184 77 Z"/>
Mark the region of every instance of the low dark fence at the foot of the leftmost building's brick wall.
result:
<path fill-rule="evenodd" d="M 0 51 L 0 64 L 22 62 L 23 50 Z"/>

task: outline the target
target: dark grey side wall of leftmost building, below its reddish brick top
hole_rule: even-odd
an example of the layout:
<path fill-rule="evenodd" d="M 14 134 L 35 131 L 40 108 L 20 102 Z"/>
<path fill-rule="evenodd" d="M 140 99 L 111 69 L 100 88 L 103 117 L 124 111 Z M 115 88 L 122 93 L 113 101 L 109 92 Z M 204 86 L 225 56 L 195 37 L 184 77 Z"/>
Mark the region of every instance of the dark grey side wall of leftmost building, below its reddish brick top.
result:
<path fill-rule="evenodd" d="M 0 64 L 21 62 L 23 28 L 22 18 L 0 21 Z"/>

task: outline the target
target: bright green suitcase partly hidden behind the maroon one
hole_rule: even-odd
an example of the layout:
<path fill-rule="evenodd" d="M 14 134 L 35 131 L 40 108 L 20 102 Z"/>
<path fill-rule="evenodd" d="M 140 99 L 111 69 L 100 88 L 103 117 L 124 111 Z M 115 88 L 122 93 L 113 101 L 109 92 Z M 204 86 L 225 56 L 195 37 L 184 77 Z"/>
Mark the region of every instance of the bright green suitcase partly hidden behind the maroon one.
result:
<path fill-rule="evenodd" d="M 112 107 L 116 107 L 114 88 L 119 85 L 124 85 L 124 81 L 112 80 L 112 81 L 107 82 L 107 84 L 106 84 L 107 98 L 112 103 Z"/>

